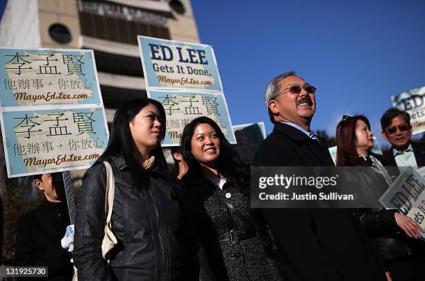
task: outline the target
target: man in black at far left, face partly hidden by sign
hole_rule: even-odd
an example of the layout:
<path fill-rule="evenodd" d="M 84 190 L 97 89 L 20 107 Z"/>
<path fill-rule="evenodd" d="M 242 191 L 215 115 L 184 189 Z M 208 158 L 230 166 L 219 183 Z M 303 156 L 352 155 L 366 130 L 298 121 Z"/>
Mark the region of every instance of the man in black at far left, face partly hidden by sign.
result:
<path fill-rule="evenodd" d="M 43 191 L 44 202 L 17 222 L 16 264 L 48 266 L 49 278 L 43 280 L 72 280 L 72 255 L 60 245 L 69 225 L 62 175 L 60 172 L 35 175 L 35 186 Z"/>

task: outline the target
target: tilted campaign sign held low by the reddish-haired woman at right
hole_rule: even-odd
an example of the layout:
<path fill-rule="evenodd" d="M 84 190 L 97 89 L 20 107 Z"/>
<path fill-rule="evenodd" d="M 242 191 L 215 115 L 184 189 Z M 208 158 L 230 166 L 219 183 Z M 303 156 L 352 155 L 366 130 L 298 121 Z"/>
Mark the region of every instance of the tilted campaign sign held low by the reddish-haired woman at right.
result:
<path fill-rule="evenodd" d="M 387 209 L 397 209 L 425 228 L 425 179 L 412 167 L 406 168 L 379 200 Z M 425 239 L 425 233 L 422 239 Z"/>

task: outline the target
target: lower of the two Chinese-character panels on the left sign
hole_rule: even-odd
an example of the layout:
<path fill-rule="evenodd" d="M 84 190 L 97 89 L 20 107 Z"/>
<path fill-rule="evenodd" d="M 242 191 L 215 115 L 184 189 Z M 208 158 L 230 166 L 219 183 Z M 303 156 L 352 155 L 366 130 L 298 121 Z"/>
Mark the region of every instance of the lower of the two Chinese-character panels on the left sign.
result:
<path fill-rule="evenodd" d="M 88 168 L 103 153 L 103 109 L 3 112 L 8 176 Z"/>

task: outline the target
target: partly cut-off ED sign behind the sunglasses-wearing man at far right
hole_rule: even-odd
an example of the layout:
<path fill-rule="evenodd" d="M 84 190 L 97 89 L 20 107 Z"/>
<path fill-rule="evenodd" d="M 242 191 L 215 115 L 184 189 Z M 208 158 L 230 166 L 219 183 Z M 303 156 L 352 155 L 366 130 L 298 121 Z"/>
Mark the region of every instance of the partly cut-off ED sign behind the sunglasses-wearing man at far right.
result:
<path fill-rule="evenodd" d="M 425 86 L 393 95 L 392 105 L 410 114 L 413 134 L 425 131 Z"/>

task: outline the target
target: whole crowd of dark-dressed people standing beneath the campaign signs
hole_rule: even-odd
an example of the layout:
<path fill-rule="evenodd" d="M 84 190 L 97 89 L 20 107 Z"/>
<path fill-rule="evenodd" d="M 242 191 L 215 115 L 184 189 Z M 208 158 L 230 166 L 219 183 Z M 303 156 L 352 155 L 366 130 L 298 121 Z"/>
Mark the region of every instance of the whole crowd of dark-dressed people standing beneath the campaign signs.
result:
<path fill-rule="evenodd" d="M 295 72 L 272 79 L 265 106 L 274 129 L 253 166 L 335 166 L 325 141 L 310 128 L 315 92 Z M 73 250 L 78 280 L 425 280 L 424 230 L 408 216 L 372 206 L 253 209 L 250 165 L 214 120 L 200 117 L 186 125 L 181 147 L 172 152 L 176 176 L 160 145 L 165 122 L 162 104 L 153 99 L 133 99 L 117 109 L 105 152 L 85 172 L 74 240 L 63 247 L 69 220 L 57 194 L 60 184 L 54 174 L 37 177 L 45 202 L 19 220 L 17 265 L 49 266 L 50 280 L 71 280 Z M 371 152 L 365 116 L 344 115 L 336 130 L 336 165 L 373 168 L 356 176 L 372 182 L 356 184 L 365 193 L 382 194 L 368 188 L 374 182 L 390 186 L 397 166 L 425 166 L 425 145 L 410 140 L 408 113 L 390 109 L 381 125 L 392 145 L 383 156 Z M 115 180 L 110 224 L 108 163 Z M 33 227 L 39 223 L 44 227 Z M 103 255 L 110 235 L 115 243 Z"/>

